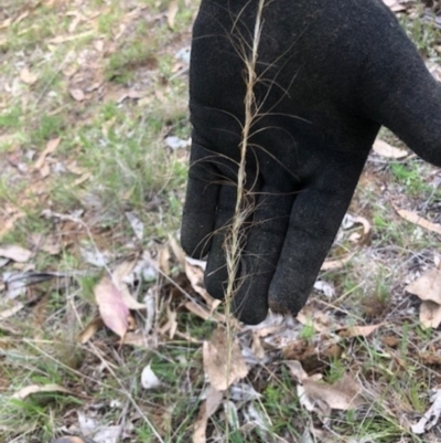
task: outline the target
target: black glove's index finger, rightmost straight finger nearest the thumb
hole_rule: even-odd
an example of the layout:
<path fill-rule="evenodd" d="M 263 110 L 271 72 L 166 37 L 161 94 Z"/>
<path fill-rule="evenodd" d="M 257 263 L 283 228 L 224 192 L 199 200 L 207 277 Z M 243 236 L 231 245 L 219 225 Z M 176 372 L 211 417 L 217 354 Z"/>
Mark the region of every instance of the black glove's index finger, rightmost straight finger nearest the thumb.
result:
<path fill-rule="evenodd" d="M 365 156 L 331 161 L 292 207 L 282 252 L 269 288 L 269 307 L 297 315 L 349 205 Z M 319 173 L 319 172 L 318 172 Z"/>

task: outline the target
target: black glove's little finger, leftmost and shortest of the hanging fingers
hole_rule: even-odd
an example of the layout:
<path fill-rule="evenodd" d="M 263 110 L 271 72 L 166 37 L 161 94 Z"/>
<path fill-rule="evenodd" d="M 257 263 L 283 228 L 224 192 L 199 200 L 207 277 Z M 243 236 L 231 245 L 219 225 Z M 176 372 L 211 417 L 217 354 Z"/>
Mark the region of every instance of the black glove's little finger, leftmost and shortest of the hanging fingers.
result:
<path fill-rule="evenodd" d="M 192 157 L 196 157 L 196 148 L 192 149 Z M 194 259 L 203 259 L 211 247 L 220 188 L 218 181 L 217 168 L 212 162 L 192 158 L 182 214 L 181 243 Z"/>

